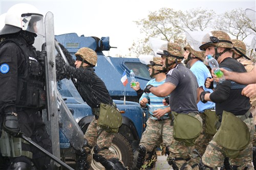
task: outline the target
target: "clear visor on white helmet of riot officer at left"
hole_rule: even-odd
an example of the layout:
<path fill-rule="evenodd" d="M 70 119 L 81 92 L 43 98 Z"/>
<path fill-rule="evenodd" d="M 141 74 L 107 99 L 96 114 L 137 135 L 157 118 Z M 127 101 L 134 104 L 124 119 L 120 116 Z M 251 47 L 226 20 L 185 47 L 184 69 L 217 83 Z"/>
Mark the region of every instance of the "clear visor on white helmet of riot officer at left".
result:
<path fill-rule="evenodd" d="M 44 37 L 44 16 L 35 13 L 22 14 L 22 30 Z"/>

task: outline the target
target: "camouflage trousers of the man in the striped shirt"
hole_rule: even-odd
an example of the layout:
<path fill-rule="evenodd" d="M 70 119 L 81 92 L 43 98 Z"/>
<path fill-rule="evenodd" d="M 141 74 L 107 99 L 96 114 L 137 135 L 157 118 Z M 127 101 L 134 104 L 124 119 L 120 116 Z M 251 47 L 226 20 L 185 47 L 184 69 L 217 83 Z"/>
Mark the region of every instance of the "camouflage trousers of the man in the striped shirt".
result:
<path fill-rule="evenodd" d="M 172 119 L 170 118 L 161 121 L 151 118 L 147 119 L 146 130 L 143 132 L 140 140 L 140 145 L 143 145 L 146 149 L 146 156 L 142 169 L 150 166 L 152 163 L 155 164 L 157 161 L 157 155 L 154 152 L 156 146 L 163 143 L 163 147 L 167 147 L 172 143 L 173 126 L 170 126 L 171 122 Z"/>

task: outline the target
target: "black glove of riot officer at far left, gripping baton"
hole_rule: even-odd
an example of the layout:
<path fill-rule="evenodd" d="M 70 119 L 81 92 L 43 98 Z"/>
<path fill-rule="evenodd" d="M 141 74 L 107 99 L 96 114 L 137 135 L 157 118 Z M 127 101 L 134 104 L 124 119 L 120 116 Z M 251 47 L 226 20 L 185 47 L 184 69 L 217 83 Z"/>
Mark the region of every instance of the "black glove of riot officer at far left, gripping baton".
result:
<path fill-rule="evenodd" d="M 19 125 L 18 125 L 17 113 L 13 113 L 13 112 L 5 113 L 3 129 L 7 133 L 15 137 L 18 137 L 22 134 L 20 132 Z"/>

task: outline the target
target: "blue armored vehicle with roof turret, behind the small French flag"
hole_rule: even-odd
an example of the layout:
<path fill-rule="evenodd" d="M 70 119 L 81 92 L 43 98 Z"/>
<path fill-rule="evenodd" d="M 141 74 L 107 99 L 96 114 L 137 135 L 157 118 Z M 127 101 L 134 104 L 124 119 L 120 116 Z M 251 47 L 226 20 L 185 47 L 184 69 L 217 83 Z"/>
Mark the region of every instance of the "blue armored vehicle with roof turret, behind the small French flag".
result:
<path fill-rule="evenodd" d="M 105 56 L 102 51 L 109 51 L 111 48 L 109 37 L 101 37 L 99 39 L 97 37 L 84 37 L 83 35 L 79 37 L 76 33 L 69 33 L 57 35 L 55 38 L 67 48 L 73 57 L 81 47 L 90 47 L 96 51 L 98 61 L 95 66 L 95 72 L 105 83 L 112 99 L 123 100 L 124 98 L 124 86 L 120 81 L 124 70 L 126 70 L 126 75 L 130 82 L 130 70 L 133 69 L 136 81 L 140 83 L 142 89 L 151 79 L 148 68 L 138 58 Z M 126 101 L 137 102 L 137 93 L 130 87 L 130 83 L 125 88 Z"/>

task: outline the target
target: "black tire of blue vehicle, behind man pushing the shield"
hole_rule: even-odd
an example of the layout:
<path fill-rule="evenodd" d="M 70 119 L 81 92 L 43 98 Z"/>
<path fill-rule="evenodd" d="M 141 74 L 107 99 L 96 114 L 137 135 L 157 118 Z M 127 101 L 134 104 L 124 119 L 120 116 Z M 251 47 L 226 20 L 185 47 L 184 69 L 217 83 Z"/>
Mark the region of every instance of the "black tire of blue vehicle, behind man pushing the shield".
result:
<path fill-rule="evenodd" d="M 124 166 L 129 166 L 129 169 L 132 169 L 134 162 L 133 148 L 129 141 L 122 134 L 116 133 L 109 149 L 117 154 L 118 158 L 123 162 Z M 91 167 L 94 170 L 104 168 L 100 163 L 94 160 L 92 160 Z"/>

